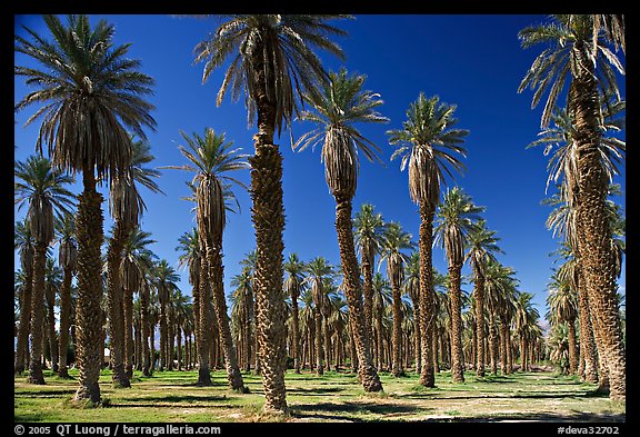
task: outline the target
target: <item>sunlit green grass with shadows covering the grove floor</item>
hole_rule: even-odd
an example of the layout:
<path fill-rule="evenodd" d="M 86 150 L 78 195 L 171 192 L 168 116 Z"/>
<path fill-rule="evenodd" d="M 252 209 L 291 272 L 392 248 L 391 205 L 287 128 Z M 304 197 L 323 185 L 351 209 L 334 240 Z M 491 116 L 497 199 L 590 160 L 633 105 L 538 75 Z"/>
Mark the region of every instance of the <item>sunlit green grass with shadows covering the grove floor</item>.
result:
<path fill-rule="evenodd" d="M 77 373 L 70 371 L 72 377 Z M 229 389 L 223 370 L 212 371 L 213 386 L 194 385 L 197 371 L 163 371 L 152 377 L 136 373 L 131 388 L 113 388 L 103 370 L 103 405 L 74 408 L 78 381 L 44 371 L 47 384 L 14 377 L 16 421 L 54 423 L 372 423 L 451 420 L 624 421 L 626 406 L 598 395 L 596 386 L 551 373 L 517 373 L 452 383 L 449 373 L 436 377 L 436 387 L 419 384 L 419 376 L 394 378 L 381 373 L 384 391 L 364 393 L 354 374 L 328 371 L 322 377 L 287 373 L 289 415 L 262 411 L 260 376 L 243 374 L 249 394 Z"/>

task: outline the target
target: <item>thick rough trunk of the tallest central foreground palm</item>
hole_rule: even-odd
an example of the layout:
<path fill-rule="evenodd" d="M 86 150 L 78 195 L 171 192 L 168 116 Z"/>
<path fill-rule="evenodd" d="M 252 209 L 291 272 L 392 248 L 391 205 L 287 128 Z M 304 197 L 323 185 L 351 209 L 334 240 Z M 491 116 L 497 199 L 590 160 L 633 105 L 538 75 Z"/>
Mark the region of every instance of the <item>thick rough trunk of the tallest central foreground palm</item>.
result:
<path fill-rule="evenodd" d="M 282 156 L 272 139 L 272 115 L 259 109 L 259 129 L 256 155 L 251 165 L 251 218 L 256 228 L 254 290 L 257 304 L 258 351 L 264 410 L 287 413 L 284 371 L 287 344 L 284 330 L 284 299 L 282 268 L 284 242 L 284 206 L 282 203 Z M 267 131 L 264 131 L 267 130 Z"/>

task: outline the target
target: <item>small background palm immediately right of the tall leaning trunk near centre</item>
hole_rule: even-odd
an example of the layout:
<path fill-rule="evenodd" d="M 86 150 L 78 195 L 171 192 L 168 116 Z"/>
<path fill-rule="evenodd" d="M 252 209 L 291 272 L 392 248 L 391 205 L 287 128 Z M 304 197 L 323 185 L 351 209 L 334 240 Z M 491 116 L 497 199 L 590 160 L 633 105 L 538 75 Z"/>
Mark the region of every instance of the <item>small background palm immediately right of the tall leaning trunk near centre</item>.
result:
<path fill-rule="evenodd" d="M 356 211 L 353 217 L 353 237 L 356 247 L 360 255 L 360 267 L 362 269 L 362 290 L 364 292 L 363 309 L 364 309 L 364 328 L 367 336 L 372 340 L 372 322 L 373 322 L 373 266 L 376 262 L 376 255 L 381 250 L 384 238 L 384 219 L 382 213 L 373 213 L 373 205 L 362 203 L 360 210 Z M 370 340 L 370 341 L 371 341 Z"/>

